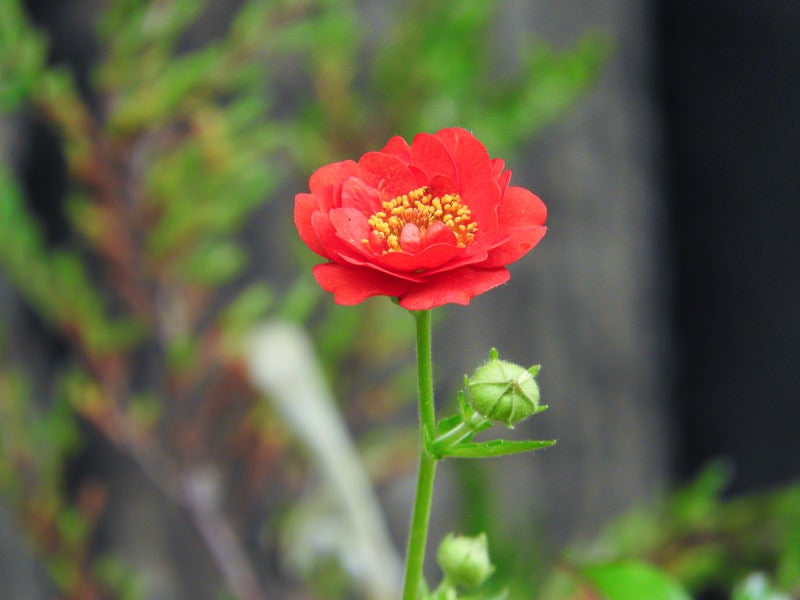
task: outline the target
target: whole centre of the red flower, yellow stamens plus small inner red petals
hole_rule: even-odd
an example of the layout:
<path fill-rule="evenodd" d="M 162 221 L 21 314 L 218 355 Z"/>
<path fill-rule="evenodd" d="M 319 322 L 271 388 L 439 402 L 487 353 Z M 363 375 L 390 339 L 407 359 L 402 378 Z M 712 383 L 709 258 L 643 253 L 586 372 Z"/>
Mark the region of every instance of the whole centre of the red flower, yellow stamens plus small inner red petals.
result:
<path fill-rule="evenodd" d="M 370 239 L 361 242 L 373 250 L 415 252 L 434 242 L 449 241 L 464 248 L 475 238 L 478 224 L 472 211 L 461 203 L 458 194 L 433 196 L 427 186 L 417 188 L 381 203 L 367 223 L 372 228 Z"/>

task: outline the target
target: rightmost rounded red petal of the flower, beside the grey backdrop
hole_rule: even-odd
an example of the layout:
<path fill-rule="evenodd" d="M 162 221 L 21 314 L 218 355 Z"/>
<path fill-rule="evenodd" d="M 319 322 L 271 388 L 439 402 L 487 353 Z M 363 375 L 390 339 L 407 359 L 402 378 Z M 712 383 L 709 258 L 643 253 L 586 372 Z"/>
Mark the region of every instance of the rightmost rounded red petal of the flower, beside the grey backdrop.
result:
<path fill-rule="evenodd" d="M 506 190 L 498 211 L 499 231 L 508 236 L 489 253 L 487 266 L 507 265 L 521 258 L 544 237 L 547 208 L 538 196 L 525 188 Z"/>

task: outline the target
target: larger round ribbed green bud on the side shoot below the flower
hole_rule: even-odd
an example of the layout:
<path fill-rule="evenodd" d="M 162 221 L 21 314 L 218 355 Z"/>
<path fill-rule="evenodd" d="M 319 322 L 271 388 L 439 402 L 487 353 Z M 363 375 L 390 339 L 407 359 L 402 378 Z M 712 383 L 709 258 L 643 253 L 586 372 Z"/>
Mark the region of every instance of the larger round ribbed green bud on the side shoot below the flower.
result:
<path fill-rule="evenodd" d="M 487 419 L 513 427 L 545 408 L 539 406 L 539 384 L 535 379 L 538 372 L 538 365 L 525 369 L 500 360 L 492 348 L 488 362 L 466 380 L 472 408 Z"/>

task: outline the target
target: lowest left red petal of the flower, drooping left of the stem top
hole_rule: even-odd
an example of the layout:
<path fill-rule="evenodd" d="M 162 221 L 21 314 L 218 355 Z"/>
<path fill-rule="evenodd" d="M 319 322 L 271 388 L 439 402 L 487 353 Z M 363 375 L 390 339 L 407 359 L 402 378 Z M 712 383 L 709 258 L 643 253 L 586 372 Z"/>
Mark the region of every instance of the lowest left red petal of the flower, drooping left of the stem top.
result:
<path fill-rule="evenodd" d="M 372 269 L 326 263 L 314 267 L 314 278 L 327 292 L 333 292 L 337 304 L 350 306 L 370 296 L 402 295 L 409 283 Z"/>

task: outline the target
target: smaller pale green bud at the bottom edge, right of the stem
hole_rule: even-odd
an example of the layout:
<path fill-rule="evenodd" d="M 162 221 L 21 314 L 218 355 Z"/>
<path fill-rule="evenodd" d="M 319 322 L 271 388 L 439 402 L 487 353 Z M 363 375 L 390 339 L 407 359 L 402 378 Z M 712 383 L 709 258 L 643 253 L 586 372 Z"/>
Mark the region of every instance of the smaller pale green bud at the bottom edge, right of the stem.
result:
<path fill-rule="evenodd" d="M 445 580 L 458 587 L 477 587 L 494 571 L 485 533 L 475 537 L 448 533 L 439 544 L 436 558 Z"/>

